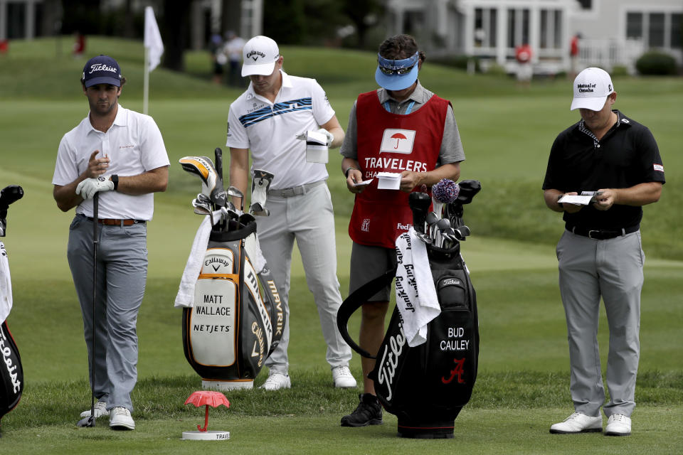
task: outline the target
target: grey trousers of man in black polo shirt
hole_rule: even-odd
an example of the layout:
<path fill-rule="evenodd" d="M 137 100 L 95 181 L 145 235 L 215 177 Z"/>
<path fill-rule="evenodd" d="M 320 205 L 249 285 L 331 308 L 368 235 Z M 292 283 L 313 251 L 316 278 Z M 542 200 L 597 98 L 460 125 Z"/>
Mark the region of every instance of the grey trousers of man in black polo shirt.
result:
<path fill-rule="evenodd" d="M 630 416 L 640 356 L 640 231 L 609 240 L 592 240 L 565 231 L 557 245 L 559 283 L 567 321 L 571 398 L 574 408 L 598 416 L 605 390 L 598 348 L 600 296 L 605 303 L 610 345 L 603 411 Z"/>

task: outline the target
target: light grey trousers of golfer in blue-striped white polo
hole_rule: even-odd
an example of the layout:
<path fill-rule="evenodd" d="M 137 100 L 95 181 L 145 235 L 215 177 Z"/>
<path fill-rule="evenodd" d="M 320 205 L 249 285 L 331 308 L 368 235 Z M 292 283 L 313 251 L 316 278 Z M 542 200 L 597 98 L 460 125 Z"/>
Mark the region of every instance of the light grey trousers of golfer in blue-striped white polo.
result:
<path fill-rule="evenodd" d="M 258 242 L 277 291 L 285 304 L 287 321 L 280 344 L 265 365 L 270 373 L 287 374 L 290 342 L 290 272 L 292 249 L 297 241 L 306 282 L 318 309 L 322 335 L 327 344 L 330 368 L 349 365 L 351 348 L 337 328 L 337 311 L 342 305 L 337 279 L 337 245 L 334 239 L 334 213 L 327 185 L 309 188 L 296 196 L 268 196 L 270 216 L 257 217 Z"/>

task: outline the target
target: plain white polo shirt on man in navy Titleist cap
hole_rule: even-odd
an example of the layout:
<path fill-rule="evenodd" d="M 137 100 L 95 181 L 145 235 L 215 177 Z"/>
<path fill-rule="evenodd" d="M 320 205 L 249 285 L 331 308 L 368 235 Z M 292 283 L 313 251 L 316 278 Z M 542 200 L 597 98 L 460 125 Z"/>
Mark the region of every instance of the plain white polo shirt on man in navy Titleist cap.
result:
<path fill-rule="evenodd" d="M 162 133 L 149 115 L 139 114 L 118 105 L 114 124 L 103 133 L 92 127 L 90 114 L 59 143 L 53 185 L 75 181 L 86 168 L 93 151 L 109 156 L 105 177 L 137 176 L 162 166 L 169 166 L 169 156 Z M 83 200 L 76 213 L 92 217 L 92 199 Z M 152 193 L 131 196 L 118 191 L 100 193 L 99 218 L 151 220 L 154 213 Z"/>

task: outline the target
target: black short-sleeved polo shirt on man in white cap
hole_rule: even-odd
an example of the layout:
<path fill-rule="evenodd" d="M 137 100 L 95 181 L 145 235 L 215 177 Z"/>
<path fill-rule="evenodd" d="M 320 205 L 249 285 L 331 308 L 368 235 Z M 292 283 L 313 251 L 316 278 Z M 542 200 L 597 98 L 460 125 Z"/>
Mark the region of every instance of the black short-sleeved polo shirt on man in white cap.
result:
<path fill-rule="evenodd" d="M 650 129 L 615 110 L 618 122 L 597 141 L 582 131 L 583 120 L 561 132 L 553 143 L 543 189 L 563 193 L 630 188 L 639 183 L 665 183 L 664 166 Z M 568 227 L 618 230 L 640 224 L 642 208 L 613 205 L 597 210 L 587 205 L 565 212 Z"/>

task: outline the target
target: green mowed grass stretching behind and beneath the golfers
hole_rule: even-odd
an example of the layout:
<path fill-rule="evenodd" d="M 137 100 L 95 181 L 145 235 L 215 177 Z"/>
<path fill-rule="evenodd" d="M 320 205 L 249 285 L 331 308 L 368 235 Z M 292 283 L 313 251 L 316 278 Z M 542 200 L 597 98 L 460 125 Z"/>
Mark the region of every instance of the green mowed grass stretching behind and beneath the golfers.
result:
<path fill-rule="evenodd" d="M 120 59 L 129 77 L 121 103 L 142 109 L 139 43 L 95 38 L 89 44 L 92 53 Z M 51 178 L 60 138 L 85 117 L 88 108 L 78 85 L 85 60 L 55 58 L 53 49 L 53 41 L 13 42 L 10 53 L 0 58 L 0 188 L 15 183 L 26 191 L 9 209 L 7 237 L 2 239 L 14 286 L 8 323 L 26 380 L 21 403 L 2 419 L 3 453 L 683 451 L 682 80 L 615 80 L 616 106 L 652 129 L 668 181 L 662 200 L 645 208 L 642 225 L 647 260 L 632 437 L 548 433 L 551 423 L 571 413 L 571 400 L 554 245 L 563 225 L 558 214 L 544 207 L 540 188 L 551 142 L 578 118 L 568 111 L 569 82 L 541 81 L 524 90 L 507 78 L 469 77 L 425 65 L 420 75 L 425 87 L 453 103 L 467 154 L 462 178 L 478 179 L 484 188 L 465 208 L 473 235 L 462 243 L 479 301 L 480 376 L 472 402 L 456 421 L 455 439 L 398 439 L 396 418 L 386 413 L 386 422 L 379 427 L 339 427 L 339 417 L 353 410 L 359 390 L 331 387 L 317 310 L 297 258 L 290 292 L 292 389 L 274 394 L 227 393 L 231 408 L 212 409 L 209 426 L 231 431 L 231 440 L 193 443 L 178 439 L 203 419 L 203 410 L 183 406 L 201 382 L 184 358 L 181 311 L 173 308 L 173 301 L 201 222 L 190 205 L 200 183 L 177 161 L 186 155 L 212 156 L 216 146 L 223 146 L 228 107 L 239 92 L 165 70 L 152 73 L 149 113 L 164 135 L 171 179 L 169 190 L 155 196 L 154 220 L 148 228 L 149 279 L 138 321 L 139 385 L 133 397 L 137 429 L 111 432 L 107 419 L 98 421 L 95 429 L 76 429 L 78 413 L 90 405 L 90 391 L 83 325 L 65 257 L 73 211 L 61 213 L 56 208 Z M 327 60 L 324 55 L 335 52 L 344 61 L 343 73 L 339 65 L 310 68 L 305 64 L 307 56 L 322 62 Z M 284 48 L 283 54 L 285 70 L 317 77 L 344 127 L 356 95 L 375 87 L 371 53 Z M 188 64 L 193 73 L 208 72 L 203 53 L 189 54 Z M 49 82 L 41 85 L 46 77 Z M 225 161 L 227 174 L 227 151 Z M 345 189 L 340 161 L 332 153 L 328 164 L 338 248 L 337 258 L 329 260 L 337 261 L 342 296 L 346 296 L 350 250 L 346 225 L 353 198 Z M 608 331 L 604 311 L 601 315 L 598 338 L 604 370 Z M 354 337 L 358 321 L 357 316 L 351 321 Z M 358 355 L 351 369 L 359 378 Z M 257 385 L 264 375 L 265 371 Z"/>

